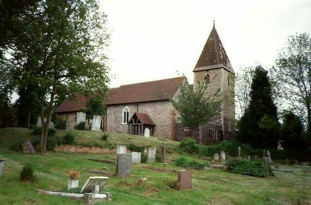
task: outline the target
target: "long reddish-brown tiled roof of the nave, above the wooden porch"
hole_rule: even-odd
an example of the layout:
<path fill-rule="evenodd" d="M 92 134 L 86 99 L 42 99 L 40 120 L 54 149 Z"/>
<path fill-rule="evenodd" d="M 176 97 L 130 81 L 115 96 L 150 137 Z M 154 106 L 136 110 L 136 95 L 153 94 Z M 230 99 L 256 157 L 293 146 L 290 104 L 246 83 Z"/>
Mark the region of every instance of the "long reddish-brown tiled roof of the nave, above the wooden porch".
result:
<path fill-rule="evenodd" d="M 111 90 L 105 105 L 132 102 L 168 100 L 164 92 L 173 97 L 186 77 L 170 78 L 144 83 L 121 85 Z"/>

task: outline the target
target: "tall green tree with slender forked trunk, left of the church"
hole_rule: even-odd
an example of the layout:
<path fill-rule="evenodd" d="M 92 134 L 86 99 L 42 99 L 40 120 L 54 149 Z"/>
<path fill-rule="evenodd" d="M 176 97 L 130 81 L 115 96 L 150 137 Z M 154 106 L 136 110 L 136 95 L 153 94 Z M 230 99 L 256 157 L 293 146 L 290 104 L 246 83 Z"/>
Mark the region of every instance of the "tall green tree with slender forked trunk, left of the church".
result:
<path fill-rule="evenodd" d="M 109 78 L 103 51 L 109 35 L 96 0 L 41 0 L 21 19 L 27 26 L 11 50 L 12 74 L 16 85 L 37 85 L 41 119 L 51 120 L 54 97 L 64 85 L 70 93 L 105 95 Z M 48 126 L 42 123 L 42 152 Z"/>

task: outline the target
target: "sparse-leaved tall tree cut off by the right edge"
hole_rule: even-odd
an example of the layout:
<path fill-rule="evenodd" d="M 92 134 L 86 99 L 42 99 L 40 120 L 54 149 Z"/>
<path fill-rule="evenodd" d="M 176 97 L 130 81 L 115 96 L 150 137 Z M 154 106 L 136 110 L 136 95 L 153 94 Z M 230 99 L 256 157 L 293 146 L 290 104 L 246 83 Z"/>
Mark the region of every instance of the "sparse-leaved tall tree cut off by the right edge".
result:
<path fill-rule="evenodd" d="M 285 99 L 307 125 L 311 139 L 311 37 L 298 34 L 288 38 L 279 52 L 273 76 L 277 82 L 279 97 Z"/>

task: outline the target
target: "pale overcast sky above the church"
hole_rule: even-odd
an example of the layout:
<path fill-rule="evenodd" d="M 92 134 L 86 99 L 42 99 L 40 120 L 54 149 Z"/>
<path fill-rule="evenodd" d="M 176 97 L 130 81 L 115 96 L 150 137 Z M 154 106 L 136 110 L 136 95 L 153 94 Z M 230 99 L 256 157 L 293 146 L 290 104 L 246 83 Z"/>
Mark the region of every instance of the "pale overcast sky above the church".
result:
<path fill-rule="evenodd" d="M 100 0 L 108 15 L 111 87 L 192 70 L 213 20 L 233 69 L 274 65 L 289 35 L 311 34 L 311 0 Z"/>

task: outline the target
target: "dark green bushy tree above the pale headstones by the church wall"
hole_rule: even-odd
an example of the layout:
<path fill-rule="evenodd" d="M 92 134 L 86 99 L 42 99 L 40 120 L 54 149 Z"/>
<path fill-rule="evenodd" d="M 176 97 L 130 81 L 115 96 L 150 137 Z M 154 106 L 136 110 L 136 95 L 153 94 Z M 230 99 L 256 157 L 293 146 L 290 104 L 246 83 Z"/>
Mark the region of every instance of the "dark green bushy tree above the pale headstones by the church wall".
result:
<path fill-rule="evenodd" d="M 106 114 L 106 107 L 104 105 L 104 99 L 100 95 L 92 96 L 86 102 L 86 117 L 93 119 L 94 115 L 103 116 Z"/>

